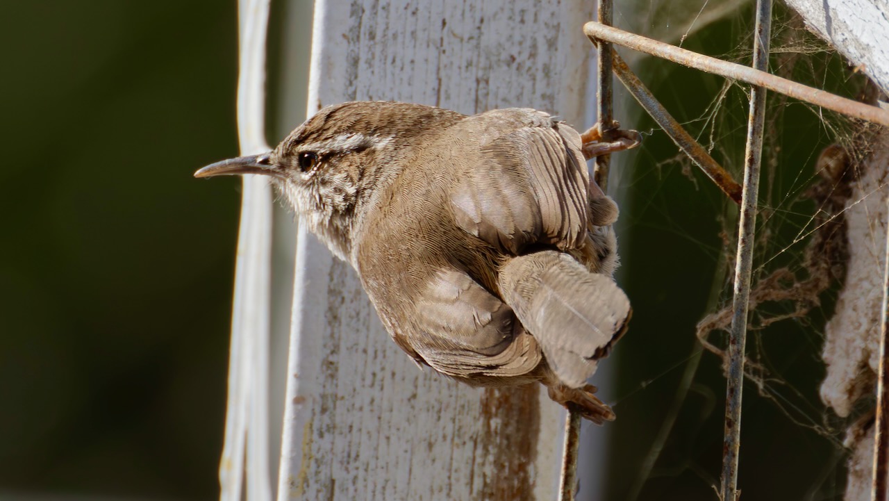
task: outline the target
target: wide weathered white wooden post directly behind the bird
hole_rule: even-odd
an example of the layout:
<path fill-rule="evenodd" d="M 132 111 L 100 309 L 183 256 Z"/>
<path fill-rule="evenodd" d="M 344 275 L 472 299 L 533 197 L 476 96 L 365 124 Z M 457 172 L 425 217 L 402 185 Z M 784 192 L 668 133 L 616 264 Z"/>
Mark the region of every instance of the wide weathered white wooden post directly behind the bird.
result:
<path fill-rule="evenodd" d="M 592 6 L 320 1 L 308 112 L 388 99 L 530 106 L 581 126 Z M 556 496 L 563 412 L 542 388 L 480 390 L 420 371 L 355 273 L 301 233 L 292 320 L 279 499 Z"/>

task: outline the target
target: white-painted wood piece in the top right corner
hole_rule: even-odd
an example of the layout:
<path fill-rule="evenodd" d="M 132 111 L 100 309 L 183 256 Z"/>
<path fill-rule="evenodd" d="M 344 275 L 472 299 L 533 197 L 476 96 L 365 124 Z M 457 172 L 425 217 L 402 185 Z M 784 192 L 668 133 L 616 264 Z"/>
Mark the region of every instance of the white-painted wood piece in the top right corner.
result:
<path fill-rule="evenodd" d="M 805 25 L 859 65 L 889 93 L 889 3 L 885 0 L 787 0 Z"/>

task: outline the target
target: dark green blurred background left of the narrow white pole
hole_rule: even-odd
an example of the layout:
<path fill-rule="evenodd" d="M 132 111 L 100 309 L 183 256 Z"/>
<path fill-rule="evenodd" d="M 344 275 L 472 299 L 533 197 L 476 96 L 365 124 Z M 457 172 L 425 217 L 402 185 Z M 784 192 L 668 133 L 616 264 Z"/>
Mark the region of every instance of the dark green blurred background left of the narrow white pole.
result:
<path fill-rule="evenodd" d="M 217 492 L 236 3 L 3 3 L 0 495 Z M 12 495 L 9 495 L 12 497 Z"/>

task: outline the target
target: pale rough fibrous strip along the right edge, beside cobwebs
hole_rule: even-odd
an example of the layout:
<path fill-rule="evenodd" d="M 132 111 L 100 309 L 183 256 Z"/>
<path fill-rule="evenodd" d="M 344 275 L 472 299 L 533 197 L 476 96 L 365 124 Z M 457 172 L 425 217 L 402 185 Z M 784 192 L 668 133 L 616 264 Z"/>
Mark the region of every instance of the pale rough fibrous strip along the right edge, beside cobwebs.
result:
<path fill-rule="evenodd" d="M 877 376 L 889 134 L 881 134 L 873 146 L 874 153 L 861 166 L 861 177 L 852 182 L 853 195 L 845 211 L 849 238 L 845 286 L 825 327 L 827 377 L 821 384 L 821 400 L 844 417 Z"/>

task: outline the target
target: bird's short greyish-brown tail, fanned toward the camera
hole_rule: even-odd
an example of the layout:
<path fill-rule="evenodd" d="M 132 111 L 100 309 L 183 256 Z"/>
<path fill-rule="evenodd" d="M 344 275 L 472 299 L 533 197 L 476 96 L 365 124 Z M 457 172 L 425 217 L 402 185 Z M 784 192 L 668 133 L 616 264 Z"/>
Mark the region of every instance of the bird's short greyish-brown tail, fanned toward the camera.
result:
<path fill-rule="evenodd" d="M 569 388 L 582 388 L 597 360 L 626 331 L 627 295 L 570 255 L 546 250 L 512 258 L 498 280 L 504 301 L 540 343 L 558 382 Z"/>

